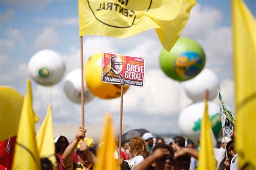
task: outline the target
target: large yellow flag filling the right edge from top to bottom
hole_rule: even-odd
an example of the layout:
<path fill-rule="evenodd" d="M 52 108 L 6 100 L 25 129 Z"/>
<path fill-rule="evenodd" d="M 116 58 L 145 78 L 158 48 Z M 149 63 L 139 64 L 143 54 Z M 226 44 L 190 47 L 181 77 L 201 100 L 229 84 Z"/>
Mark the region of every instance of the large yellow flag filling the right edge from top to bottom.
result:
<path fill-rule="evenodd" d="M 239 168 L 256 169 L 256 22 L 240 0 L 232 1 L 236 108 L 235 149 Z"/>

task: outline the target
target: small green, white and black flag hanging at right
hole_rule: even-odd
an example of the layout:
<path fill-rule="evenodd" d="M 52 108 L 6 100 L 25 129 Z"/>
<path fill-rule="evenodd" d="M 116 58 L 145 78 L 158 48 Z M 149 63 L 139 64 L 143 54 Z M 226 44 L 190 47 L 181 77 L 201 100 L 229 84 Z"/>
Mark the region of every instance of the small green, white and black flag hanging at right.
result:
<path fill-rule="evenodd" d="M 220 105 L 221 126 L 224 129 L 224 132 L 227 134 L 227 136 L 231 138 L 234 132 L 235 115 L 231 112 L 230 108 L 226 105 L 225 101 L 223 100 L 219 92 L 219 89 L 218 89 L 218 98 L 219 98 L 219 105 Z"/>

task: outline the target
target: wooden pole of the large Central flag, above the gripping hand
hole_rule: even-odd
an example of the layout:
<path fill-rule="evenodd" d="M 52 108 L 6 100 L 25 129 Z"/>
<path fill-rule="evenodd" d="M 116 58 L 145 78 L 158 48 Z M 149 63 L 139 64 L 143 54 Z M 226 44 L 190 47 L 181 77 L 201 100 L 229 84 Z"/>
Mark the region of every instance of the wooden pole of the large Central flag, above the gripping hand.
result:
<path fill-rule="evenodd" d="M 82 104 L 82 127 L 84 127 L 84 57 L 83 36 L 80 36 L 80 63 L 81 63 L 81 104 Z"/>

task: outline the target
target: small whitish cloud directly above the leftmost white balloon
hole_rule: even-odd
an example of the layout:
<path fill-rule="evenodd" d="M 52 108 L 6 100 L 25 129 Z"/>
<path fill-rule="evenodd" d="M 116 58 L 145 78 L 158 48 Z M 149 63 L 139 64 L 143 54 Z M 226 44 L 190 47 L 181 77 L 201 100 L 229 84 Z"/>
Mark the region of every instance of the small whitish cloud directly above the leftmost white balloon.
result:
<path fill-rule="evenodd" d="M 57 31 L 51 27 L 46 27 L 42 30 L 42 33 L 37 36 L 33 46 L 35 50 L 51 49 L 58 43 L 59 37 Z"/>

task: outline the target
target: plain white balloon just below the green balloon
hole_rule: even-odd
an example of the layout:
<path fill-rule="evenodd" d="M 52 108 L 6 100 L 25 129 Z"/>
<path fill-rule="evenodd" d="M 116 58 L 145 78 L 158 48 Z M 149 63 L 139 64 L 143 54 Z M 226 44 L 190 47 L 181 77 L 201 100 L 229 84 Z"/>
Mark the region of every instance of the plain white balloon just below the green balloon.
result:
<path fill-rule="evenodd" d="M 212 70 L 205 68 L 197 77 L 182 83 L 189 98 L 194 102 L 204 99 L 205 90 L 208 90 L 208 99 L 213 100 L 217 96 L 219 89 L 219 79 Z"/>

